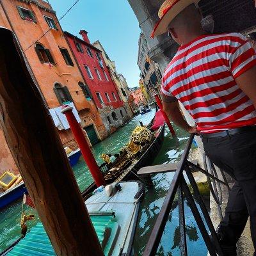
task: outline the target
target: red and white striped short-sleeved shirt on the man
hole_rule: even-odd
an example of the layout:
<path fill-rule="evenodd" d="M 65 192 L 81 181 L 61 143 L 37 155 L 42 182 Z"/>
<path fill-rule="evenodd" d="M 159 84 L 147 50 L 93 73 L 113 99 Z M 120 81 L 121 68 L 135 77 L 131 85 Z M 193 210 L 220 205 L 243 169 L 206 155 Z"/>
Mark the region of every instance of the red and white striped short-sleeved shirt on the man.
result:
<path fill-rule="evenodd" d="M 162 92 L 184 105 L 201 132 L 255 125 L 253 102 L 235 80 L 254 65 L 255 50 L 243 35 L 202 35 L 179 48 Z"/>

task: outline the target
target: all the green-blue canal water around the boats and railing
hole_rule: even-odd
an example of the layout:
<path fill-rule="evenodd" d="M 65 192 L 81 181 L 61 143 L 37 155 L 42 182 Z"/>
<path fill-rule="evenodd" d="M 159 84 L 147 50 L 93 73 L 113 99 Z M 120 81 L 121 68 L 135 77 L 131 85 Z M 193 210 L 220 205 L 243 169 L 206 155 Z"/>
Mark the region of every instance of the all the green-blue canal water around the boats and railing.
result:
<path fill-rule="evenodd" d="M 102 153 L 115 154 L 127 143 L 127 141 L 129 141 L 129 135 L 133 129 L 140 125 L 139 121 L 142 121 L 143 124 L 148 124 L 153 117 L 154 111 L 143 116 L 135 116 L 128 124 L 109 136 L 109 138 L 95 145 L 93 147 L 93 154 L 95 159 L 97 159 L 98 164 L 103 163 L 102 159 L 100 159 Z M 174 163 L 179 161 L 189 135 L 186 132 L 177 129 L 177 127 L 175 127 L 175 130 L 177 131 L 177 140 L 172 139 L 172 136 L 166 127 L 163 147 L 157 154 L 154 164 Z M 92 184 L 92 176 L 90 175 L 90 172 L 88 172 L 83 159 L 79 160 L 79 163 L 74 166 L 73 170 L 81 191 Z M 172 181 L 172 177 L 173 173 L 157 174 L 153 177 L 154 188 L 147 188 L 145 199 L 141 203 L 138 227 L 134 239 L 134 252 L 136 256 L 142 255 L 143 250 L 145 249 L 145 244 L 147 244 L 148 237 L 154 226 L 157 215 L 159 214 L 166 192 Z M 0 212 L 0 252 L 20 237 L 19 223 L 21 205 L 21 200 L 18 200 L 7 209 Z M 184 207 L 186 213 L 188 254 L 205 256 L 207 255 L 207 249 L 186 201 Z M 35 210 L 30 207 L 26 206 L 25 209 L 26 214 L 36 215 Z M 159 250 L 157 252 L 157 255 L 159 256 L 180 255 L 178 212 L 177 203 L 175 203 L 168 218 L 161 244 L 159 245 Z M 29 228 L 36 225 L 38 221 L 40 220 L 36 215 L 35 220 L 28 223 Z"/>

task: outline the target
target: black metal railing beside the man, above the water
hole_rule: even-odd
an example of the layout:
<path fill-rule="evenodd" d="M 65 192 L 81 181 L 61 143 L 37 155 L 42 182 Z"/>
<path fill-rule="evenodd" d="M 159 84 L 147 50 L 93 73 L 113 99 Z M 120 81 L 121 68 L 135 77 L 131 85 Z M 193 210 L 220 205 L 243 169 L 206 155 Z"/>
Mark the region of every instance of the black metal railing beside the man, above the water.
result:
<path fill-rule="evenodd" d="M 148 239 L 147 246 L 143 253 L 143 256 L 153 256 L 156 255 L 157 248 L 159 247 L 159 243 L 161 241 L 161 237 L 163 236 L 164 228 L 166 226 L 166 222 L 168 221 L 168 216 L 172 209 L 173 201 L 176 193 L 178 193 L 178 201 L 179 201 L 179 227 L 180 227 L 180 252 L 182 256 L 188 255 L 187 252 L 187 243 L 186 243 L 186 223 L 184 216 L 184 198 L 188 201 L 189 207 L 193 213 L 193 216 L 196 220 L 198 228 L 204 238 L 205 244 L 208 248 L 209 254 L 220 255 L 223 256 L 223 252 L 221 251 L 220 243 L 218 241 L 218 237 L 216 235 L 216 231 L 212 224 L 211 218 L 209 216 L 209 212 L 207 211 L 207 207 L 204 204 L 202 196 L 200 195 L 198 186 L 191 172 L 191 167 L 193 170 L 198 170 L 205 175 L 207 175 L 207 180 L 209 182 L 210 190 L 214 195 L 214 200 L 218 205 L 219 212 L 221 212 L 220 205 L 222 204 L 222 193 L 221 193 L 221 184 L 227 186 L 227 179 L 223 172 L 223 180 L 218 178 L 217 172 L 214 168 L 214 165 L 211 163 L 207 156 L 204 156 L 205 162 L 205 170 L 196 166 L 195 164 L 188 161 L 189 150 L 191 149 L 191 145 L 193 143 L 194 135 L 191 135 L 189 141 L 186 145 L 184 153 L 182 154 L 182 158 L 180 160 L 179 166 L 175 172 L 172 183 L 170 185 L 170 189 L 166 195 L 161 211 L 159 212 L 159 216 L 157 217 L 156 223 L 150 234 L 150 238 Z M 184 174 L 187 175 L 191 188 L 193 189 L 193 195 L 189 190 L 189 186 L 184 179 Z M 194 199 L 195 198 L 195 199 Z M 200 210 L 202 211 L 202 215 L 204 216 L 204 220 L 207 224 L 207 227 L 211 233 L 211 237 L 207 231 L 207 227 L 205 227 L 204 221 L 198 208 L 196 207 L 196 202 L 198 203 Z M 220 214 L 222 217 L 222 212 Z M 218 254 L 217 254 L 218 253 Z"/>

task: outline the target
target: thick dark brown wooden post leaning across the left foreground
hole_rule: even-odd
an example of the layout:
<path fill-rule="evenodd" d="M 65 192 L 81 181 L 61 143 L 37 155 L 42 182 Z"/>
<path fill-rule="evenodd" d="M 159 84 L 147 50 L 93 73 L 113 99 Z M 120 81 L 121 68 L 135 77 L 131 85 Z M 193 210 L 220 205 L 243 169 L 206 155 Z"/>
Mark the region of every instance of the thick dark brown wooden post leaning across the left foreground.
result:
<path fill-rule="evenodd" d="M 52 246 L 59 256 L 103 256 L 60 138 L 17 40 L 3 28 L 0 37 L 0 122 Z"/>

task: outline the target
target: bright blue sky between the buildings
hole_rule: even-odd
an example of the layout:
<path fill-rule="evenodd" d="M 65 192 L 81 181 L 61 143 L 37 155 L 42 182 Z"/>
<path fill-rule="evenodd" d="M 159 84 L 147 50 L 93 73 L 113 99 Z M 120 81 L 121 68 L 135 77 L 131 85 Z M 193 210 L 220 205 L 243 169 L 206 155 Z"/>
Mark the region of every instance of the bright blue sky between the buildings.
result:
<path fill-rule="evenodd" d="M 49 0 L 60 18 L 75 0 Z M 60 20 L 61 27 L 73 35 L 88 31 L 90 42 L 100 41 L 116 70 L 127 79 L 129 87 L 138 86 L 140 69 L 137 65 L 138 20 L 127 0 L 80 0 Z"/>

